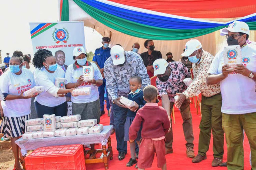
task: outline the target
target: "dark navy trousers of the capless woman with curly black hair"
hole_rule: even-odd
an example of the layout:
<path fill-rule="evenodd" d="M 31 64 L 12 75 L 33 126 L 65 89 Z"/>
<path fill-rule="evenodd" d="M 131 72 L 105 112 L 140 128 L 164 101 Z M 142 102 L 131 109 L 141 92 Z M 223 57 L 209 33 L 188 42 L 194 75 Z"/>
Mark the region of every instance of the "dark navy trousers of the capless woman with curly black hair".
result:
<path fill-rule="evenodd" d="M 37 110 L 38 118 L 43 118 L 43 115 L 52 115 L 56 116 L 67 116 L 68 115 L 68 103 L 64 102 L 55 107 L 44 106 L 38 102 L 35 102 L 35 109 Z"/>

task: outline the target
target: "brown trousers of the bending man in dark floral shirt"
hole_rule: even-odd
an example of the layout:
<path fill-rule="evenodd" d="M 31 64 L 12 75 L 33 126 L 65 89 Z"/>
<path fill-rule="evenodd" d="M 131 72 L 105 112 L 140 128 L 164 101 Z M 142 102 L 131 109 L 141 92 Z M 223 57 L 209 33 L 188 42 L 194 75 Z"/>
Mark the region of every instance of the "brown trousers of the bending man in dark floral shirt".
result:
<path fill-rule="evenodd" d="M 186 148 L 191 147 L 194 148 L 194 134 L 193 134 L 193 126 L 192 126 L 192 115 L 190 112 L 190 102 L 189 99 L 185 100 L 183 104 L 181 105 L 180 111 L 181 111 L 181 117 L 183 119 L 183 132 L 185 139 L 187 141 Z M 174 103 L 170 102 L 171 111 L 173 108 Z M 172 120 L 171 120 L 172 123 Z M 166 141 L 165 141 L 165 147 L 166 148 L 172 148 L 172 142 L 173 142 L 173 134 L 172 134 L 172 127 L 171 131 L 165 135 Z"/>

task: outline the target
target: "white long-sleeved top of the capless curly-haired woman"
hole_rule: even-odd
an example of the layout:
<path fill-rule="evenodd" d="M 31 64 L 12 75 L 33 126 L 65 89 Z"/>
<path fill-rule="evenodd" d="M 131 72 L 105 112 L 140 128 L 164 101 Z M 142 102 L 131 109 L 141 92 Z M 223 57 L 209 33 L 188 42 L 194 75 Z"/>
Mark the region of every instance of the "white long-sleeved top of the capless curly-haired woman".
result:
<path fill-rule="evenodd" d="M 59 88 L 54 84 L 56 78 L 65 78 L 65 72 L 60 67 L 57 67 L 54 73 L 42 68 L 41 71 L 36 71 L 34 76 L 37 86 L 44 87 L 44 91 L 35 97 L 35 101 L 48 107 L 55 107 L 67 101 L 66 97 L 57 97 Z"/>

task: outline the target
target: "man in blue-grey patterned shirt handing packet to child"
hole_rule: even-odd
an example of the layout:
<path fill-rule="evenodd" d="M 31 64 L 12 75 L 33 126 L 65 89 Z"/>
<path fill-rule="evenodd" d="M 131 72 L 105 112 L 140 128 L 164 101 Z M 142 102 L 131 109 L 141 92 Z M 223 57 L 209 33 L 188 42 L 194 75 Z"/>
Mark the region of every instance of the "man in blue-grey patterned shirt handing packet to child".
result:
<path fill-rule="evenodd" d="M 119 152 L 118 159 L 122 160 L 127 153 L 127 142 L 124 141 L 127 108 L 120 103 L 120 97 L 128 97 L 130 92 L 129 80 L 132 76 L 138 75 L 141 77 L 142 89 L 150 85 L 150 79 L 142 58 L 137 53 L 124 51 L 123 47 L 115 45 L 111 48 L 110 54 L 111 57 L 104 63 L 104 75 L 106 89 L 108 90 L 109 98 L 113 102 L 117 150 Z M 138 106 L 136 105 L 136 107 Z"/>

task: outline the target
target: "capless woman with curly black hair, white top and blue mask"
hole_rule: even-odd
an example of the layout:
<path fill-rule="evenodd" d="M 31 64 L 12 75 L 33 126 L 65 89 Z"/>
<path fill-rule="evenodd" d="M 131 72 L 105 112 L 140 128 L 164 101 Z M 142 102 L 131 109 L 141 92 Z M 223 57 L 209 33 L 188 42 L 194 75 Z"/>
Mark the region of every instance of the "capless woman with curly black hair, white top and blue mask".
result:
<path fill-rule="evenodd" d="M 35 68 L 39 69 L 34 73 L 35 82 L 37 86 L 44 87 L 44 91 L 35 98 L 38 117 L 42 118 L 44 114 L 67 116 L 68 103 L 64 94 L 72 92 L 73 89 L 62 89 L 55 86 L 55 79 L 65 78 L 65 72 L 57 67 L 52 52 L 46 49 L 38 50 L 34 54 L 33 64 Z"/>

